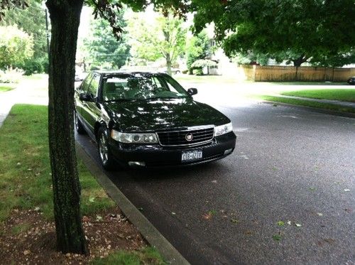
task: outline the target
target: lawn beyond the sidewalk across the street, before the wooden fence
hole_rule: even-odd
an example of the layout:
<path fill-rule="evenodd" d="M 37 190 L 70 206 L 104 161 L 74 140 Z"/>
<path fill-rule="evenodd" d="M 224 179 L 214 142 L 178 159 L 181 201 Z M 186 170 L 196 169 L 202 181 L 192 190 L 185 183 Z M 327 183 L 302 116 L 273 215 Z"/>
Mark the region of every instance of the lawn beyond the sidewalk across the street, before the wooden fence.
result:
<path fill-rule="evenodd" d="M 312 99 L 331 99 L 345 102 L 355 102 L 355 89 L 325 89 L 325 90 L 298 90 L 281 93 L 286 96 L 310 97 Z"/>

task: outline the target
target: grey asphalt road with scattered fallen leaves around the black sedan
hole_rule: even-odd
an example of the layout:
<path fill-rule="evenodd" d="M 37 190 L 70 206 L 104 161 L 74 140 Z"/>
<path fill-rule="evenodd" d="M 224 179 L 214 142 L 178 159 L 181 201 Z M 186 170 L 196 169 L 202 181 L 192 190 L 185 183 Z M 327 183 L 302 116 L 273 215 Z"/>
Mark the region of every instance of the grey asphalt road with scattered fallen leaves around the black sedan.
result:
<path fill-rule="evenodd" d="M 231 156 L 109 178 L 192 264 L 355 264 L 355 119 L 221 94 Z"/>

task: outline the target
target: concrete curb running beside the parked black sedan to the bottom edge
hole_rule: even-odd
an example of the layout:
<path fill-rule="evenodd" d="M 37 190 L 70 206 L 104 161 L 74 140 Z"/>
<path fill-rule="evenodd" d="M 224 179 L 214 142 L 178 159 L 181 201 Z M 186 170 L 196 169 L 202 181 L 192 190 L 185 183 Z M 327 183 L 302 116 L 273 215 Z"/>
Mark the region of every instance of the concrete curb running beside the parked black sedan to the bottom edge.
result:
<path fill-rule="evenodd" d="M 92 158 L 84 151 L 82 146 L 75 142 L 77 155 L 82 159 L 85 166 L 94 175 L 102 185 L 102 188 L 107 192 L 119 208 L 124 212 L 127 218 L 135 225 L 143 237 L 151 244 L 151 246 L 158 249 L 158 252 L 163 256 L 163 259 L 169 264 L 190 264 L 170 242 L 168 242 L 163 234 L 160 234 L 151 222 L 129 201 L 128 198 L 119 190 L 119 188 L 111 182 L 107 175 L 102 171 Z"/>

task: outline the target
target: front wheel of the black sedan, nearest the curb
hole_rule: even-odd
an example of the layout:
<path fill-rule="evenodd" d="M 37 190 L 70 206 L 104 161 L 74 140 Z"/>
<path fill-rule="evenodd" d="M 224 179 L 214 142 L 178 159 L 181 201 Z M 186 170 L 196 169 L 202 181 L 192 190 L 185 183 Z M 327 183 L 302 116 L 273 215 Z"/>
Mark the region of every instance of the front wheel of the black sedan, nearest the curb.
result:
<path fill-rule="evenodd" d="M 106 170 L 114 169 L 114 158 L 109 148 L 109 133 L 101 127 L 97 133 L 97 148 L 102 166 Z"/>

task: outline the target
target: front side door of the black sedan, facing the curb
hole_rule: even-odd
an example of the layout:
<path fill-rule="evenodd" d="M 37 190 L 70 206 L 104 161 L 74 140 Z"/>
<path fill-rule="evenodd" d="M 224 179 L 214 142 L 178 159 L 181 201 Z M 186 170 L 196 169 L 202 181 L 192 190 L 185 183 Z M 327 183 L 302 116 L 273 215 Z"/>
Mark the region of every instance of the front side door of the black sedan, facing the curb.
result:
<path fill-rule="evenodd" d="M 97 104 L 97 97 L 99 93 L 99 85 L 100 85 L 101 75 L 98 73 L 92 74 L 92 80 L 87 87 L 87 94 L 90 94 L 92 101 L 83 102 L 82 108 L 82 117 L 84 119 L 84 126 L 87 127 L 89 133 L 91 132 L 94 136 L 94 124 L 98 120 L 100 116 L 99 104 Z"/>

